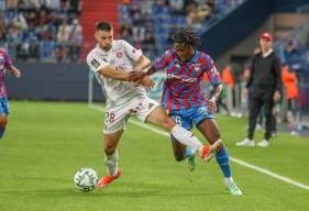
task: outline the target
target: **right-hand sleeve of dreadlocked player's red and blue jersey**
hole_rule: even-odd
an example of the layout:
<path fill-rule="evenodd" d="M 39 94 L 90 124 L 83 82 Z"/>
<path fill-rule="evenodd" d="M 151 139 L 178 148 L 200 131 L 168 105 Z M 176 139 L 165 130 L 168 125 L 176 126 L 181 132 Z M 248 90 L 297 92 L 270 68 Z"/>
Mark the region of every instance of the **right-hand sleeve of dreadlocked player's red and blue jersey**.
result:
<path fill-rule="evenodd" d="M 203 59 L 205 73 L 208 75 L 211 85 L 221 85 L 220 73 L 210 56 L 205 56 Z"/>

